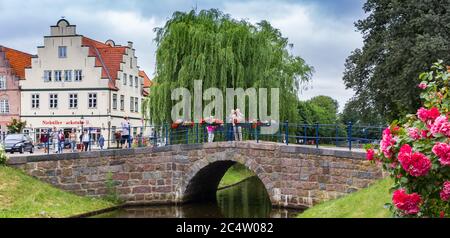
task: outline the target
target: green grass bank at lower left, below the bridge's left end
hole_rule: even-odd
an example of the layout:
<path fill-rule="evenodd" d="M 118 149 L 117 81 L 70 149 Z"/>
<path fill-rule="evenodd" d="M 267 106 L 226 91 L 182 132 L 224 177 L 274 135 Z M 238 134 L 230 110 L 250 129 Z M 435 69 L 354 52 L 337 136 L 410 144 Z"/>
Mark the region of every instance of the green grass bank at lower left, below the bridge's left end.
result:
<path fill-rule="evenodd" d="M 69 217 L 114 205 L 59 190 L 19 170 L 0 166 L 0 218 Z"/>

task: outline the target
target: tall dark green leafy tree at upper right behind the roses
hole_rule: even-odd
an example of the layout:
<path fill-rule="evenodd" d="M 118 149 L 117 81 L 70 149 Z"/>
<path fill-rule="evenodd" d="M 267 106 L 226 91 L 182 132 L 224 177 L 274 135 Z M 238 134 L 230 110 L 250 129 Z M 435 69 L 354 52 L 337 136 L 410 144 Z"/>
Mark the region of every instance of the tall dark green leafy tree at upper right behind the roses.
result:
<path fill-rule="evenodd" d="M 349 108 L 363 123 L 384 122 L 420 106 L 419 74 L 438 59 L 450 64 L 449 0 L 368 0 L 356 23 L 364 46 L 346 62 L 344 81 L 355 90 Z M 350 109 L 349 109 L 350 110 Z"/>

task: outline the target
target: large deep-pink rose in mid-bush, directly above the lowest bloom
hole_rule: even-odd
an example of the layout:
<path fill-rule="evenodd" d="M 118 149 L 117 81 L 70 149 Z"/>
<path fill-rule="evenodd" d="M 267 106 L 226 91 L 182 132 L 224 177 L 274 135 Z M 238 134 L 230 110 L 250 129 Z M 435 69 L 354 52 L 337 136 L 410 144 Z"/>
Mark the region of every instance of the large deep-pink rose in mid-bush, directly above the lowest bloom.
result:
<path fill-rule="evenodd" d="M 414 177 L 425 176 L 431 169 L 431 160 L 420 152 L 413 153 L 408 144 L 400 148 L 398 161 L 403 169 Z"/>

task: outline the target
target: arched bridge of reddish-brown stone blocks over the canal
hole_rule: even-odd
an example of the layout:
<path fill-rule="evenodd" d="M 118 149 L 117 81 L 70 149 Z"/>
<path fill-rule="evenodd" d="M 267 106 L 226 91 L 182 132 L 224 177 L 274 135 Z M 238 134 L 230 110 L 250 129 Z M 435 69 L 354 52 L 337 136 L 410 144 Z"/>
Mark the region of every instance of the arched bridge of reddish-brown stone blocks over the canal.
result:
<path fill-rule="evenodd" d="M 215 199 L 225 172 L 241 163 L 255 172 L 274 206 L 310 207 L 367 187 L 382 177 L 365 153 L 255 142 L 15 157 L 10 166 L 73 193 L 106 195 L 108 174 L 130 204 Z"/>

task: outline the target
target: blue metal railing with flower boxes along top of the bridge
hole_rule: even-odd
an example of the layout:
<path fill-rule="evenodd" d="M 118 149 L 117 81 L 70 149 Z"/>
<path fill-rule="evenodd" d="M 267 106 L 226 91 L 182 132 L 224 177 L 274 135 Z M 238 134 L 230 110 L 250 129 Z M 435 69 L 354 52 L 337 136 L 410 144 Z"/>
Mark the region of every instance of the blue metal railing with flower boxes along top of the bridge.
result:
<path fill-rule="evenodd" d="M 65 141 L 58 144 L 65 150 L 76 147 L 75 151 L 96 149 L 121 149 L 135 147 L 161 147 L 174 144 L 202 144 L 210 141 L 255 141 L 276 142 L 287 145 L 306 145 L 319 147 L 344 147 L 352 150 L 362 148 L 365 144 L 378 144 L 385 126 L 372 126 L 360 124 L 298 124 L 283 122 L 274 124 L 278 131 L 274 134 L 264 135 L 261 129 L 265 126 L 256 123 L 242 123 L 233 126 L 225 123 L 214 130 L 214 138 L 208 134 L 208 125 L 191 124 L 188 126 L 174 126 L 172 124 L 133 126 L 129 128 L 84 128 L 89 137 L 89 143 L 83 139 L 78 130 L 75 144 L 71 143 L 70 135 L 65 135 Z M 129 133 L 128 133 L 129 132 Z M 102 135 L 102 136 L 100 136 Z M 40 138 L 47 136 L 48 143 L 41 143 Z M 47 148 L 47 153 L 53 147 L 51 129 L 45 133 L 33 135 L 38 148 Z M 103 139 L 101 139 L 103 137 Z M 85 143 L 83 143 L 85 142 Z M 86 146 L 87 145 L 87 146 Z M 103 145 L 103 147 L 101 146 Z"/>

